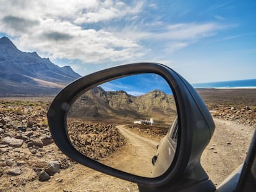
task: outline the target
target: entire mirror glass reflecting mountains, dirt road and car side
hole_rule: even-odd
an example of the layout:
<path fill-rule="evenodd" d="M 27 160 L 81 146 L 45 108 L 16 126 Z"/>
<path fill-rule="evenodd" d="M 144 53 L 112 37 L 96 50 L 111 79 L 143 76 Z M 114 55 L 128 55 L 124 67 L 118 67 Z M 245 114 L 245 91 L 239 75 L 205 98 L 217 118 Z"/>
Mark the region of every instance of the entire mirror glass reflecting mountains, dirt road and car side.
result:
<path fill-rule="evenodd" d="M 153 73 L 108 81 L 83 93 L 67 113 L 73 146 L 124 172 L 157 177 L 171 165 L 177 143 L 170 86 Z"/>

